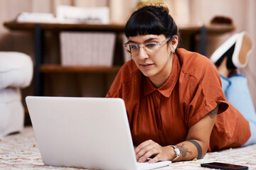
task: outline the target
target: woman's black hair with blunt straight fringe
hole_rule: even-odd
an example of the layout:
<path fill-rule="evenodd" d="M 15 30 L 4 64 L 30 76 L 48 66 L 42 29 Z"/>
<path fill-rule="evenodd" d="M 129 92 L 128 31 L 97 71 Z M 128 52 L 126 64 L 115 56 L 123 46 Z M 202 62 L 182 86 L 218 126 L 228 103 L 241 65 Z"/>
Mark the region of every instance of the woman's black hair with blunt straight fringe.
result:
<path fill-rule="evenodd" d="M 134 11 L 125 26 L 127 38 L 147 34 L 164 34 L 166 38 L 172 38 L 174 35 L 179 37 L 174 19 L 164 10 L 164 7 L 157 6 L 144 6 Z"/>

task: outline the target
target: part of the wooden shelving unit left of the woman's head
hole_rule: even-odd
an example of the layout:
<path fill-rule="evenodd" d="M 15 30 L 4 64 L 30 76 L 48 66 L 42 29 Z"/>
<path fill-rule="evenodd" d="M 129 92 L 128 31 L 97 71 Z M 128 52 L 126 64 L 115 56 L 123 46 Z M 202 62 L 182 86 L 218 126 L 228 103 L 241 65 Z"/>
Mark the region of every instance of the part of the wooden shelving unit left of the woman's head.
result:
<path fill-rule="evenodd" d="M 124 33 L 124 25 L 118 24 L 107 24 L 107 25 L 97 25 L 97 24 L 69 24 L 69 23 L 17 23 L 16 21 L 10 21 L 4 23 L 6 28 L 10 30 L 21 30 L 33 32 L 35 37 L 35 95 L 43 96 L 43 73 L 99 73 L 99 74 L 110 74 L 117 73 L 120 66 L 122 65 L 122 57 L 114 57 L 113 67 L 67 67 L 60 64 L 44 64 L 43 63 L 43 39 L 45 31 L 97 31 L 97 32 L 114 32 L 117 35 Z M 122 56 L 122 45 L 117 36 L 116 46 L 114 55 Z M 118 50 L 121 49 L 121 50 Z"/>

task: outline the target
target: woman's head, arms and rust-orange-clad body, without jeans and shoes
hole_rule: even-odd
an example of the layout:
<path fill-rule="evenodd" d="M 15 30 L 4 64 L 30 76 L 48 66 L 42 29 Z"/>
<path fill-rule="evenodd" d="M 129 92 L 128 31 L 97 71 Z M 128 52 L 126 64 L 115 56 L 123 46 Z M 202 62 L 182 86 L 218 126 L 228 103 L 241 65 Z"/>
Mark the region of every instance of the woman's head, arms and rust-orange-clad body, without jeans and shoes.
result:
<path fill-rule="evenodd" d="M 107 97 L 124 99 L 138 162 L 201 159 L 247 142 L 250 125 L 225 101 L 214 64 L 177 48 L 178 28 L 165 4 L 139 8 L 125 34 L 132 60 Z"/>

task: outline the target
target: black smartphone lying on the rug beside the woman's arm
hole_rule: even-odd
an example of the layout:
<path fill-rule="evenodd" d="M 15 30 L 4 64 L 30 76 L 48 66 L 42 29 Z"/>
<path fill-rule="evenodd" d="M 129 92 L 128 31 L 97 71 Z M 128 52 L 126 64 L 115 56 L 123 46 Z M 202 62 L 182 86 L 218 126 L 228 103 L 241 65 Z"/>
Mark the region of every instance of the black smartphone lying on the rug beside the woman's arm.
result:
<path fill-rule="evenodd" d="M 243 170 L 248 169 L 248 166 L 236 165 L 236 164 L 224 164 L 220 162 L 210 162 L 206 164 L 201 164 L 202 167 L 207 167 L 210 169 L 236 169 Z"/>

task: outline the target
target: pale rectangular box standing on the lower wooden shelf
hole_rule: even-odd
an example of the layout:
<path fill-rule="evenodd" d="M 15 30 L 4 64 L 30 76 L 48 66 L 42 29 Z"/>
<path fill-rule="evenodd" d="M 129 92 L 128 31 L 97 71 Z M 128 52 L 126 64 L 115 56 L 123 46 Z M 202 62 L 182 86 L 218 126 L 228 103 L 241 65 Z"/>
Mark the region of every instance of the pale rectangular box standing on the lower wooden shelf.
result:
<path fill-rule="evenodd" d="M 114 60 L 114 33 L 68 32 L 60 33 L 61 64 L 65 66 L 112 66 Z"/>

